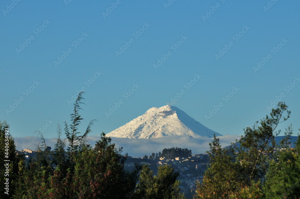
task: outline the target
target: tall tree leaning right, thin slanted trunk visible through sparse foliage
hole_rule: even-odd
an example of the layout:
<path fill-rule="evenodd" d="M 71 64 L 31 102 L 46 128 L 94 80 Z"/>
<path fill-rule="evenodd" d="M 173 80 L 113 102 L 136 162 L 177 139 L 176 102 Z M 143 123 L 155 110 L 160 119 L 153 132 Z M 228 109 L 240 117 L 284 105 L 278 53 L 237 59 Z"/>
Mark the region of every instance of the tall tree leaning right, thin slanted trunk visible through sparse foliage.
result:
<path fill-rule="evenodd" d="M 240 146 L 235 147 L 238 152 L 237 161 L 241 163 L 239 172 L 244 176 L 246 184 L 251 186 L 251 181 L 261 183 L 268 168 L 268 162 L 273 159 L 273 148 L 276 146 L 275 136 L 279 123 L 287 120 L 290 111 L 283 102 L 279 102 L 276 109 L 272 109 L 270 116 L 258 121 L 253 128 L 247 127 L 245 136 L 239 141 Z M 283 116 L 286 111 L 287 116 Z M 263 152 L 266 154 L 264 155 Z"/>

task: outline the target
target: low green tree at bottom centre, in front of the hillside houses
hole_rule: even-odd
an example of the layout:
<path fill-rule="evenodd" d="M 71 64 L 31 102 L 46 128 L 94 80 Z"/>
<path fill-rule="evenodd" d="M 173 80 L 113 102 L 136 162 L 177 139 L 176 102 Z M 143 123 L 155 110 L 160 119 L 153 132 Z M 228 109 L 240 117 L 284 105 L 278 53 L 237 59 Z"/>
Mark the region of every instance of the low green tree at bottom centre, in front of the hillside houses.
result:
<path fill-rule="evenodd" d="M 183 199 L 179 188 L 179 181 L 176 180 L 179 173 L 168 165 L 159 166 L 157 176 L 148 165 L 143 165 L 140 171 L 139 182 L 135 191 L 135 198 L 144 199 Z"/>

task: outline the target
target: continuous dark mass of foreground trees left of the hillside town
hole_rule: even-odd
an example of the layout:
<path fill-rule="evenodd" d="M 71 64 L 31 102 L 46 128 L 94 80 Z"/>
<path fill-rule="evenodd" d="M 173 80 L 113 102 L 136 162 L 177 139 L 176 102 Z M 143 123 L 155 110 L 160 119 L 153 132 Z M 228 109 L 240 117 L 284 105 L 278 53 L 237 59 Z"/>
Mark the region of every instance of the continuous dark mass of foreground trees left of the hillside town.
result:
<path fill-rule="evenodd" d="M 0 198 L 22 199 L 89 199 L 89 198 L 184 198 L 179 193 L 178 173 L 174 173 L 170 166 L 158 168 L 157 176 L 147 165 L 136 165 L 133 171 L 124 169 L 125 157 L 122 149 L 117 149 L 111 143 L 111 138 L 104 133 L 95 147 L 86 144 L 87 135 L 91 132 L 92 120 L 86 131 L 80 133 L 80 105 L 82 93 L 71 114 L 71 124 L 64 124 L 64 134 L 67 146 L 61 138 L 62 129 L 58 125 L 57 142 L 53 151 L 48 146 L 41 132 L 42 143 L 36 159 L 25 164 L 24 156 L 16 155 L 16 147 L 11 136 L 5 137 L 8 124 L 0 121 L 0 149 L 1 162 L 9 159 L 9 176 L 5 176 L 5 166 L 1 164 L 0 172 L 3 182 L 8 178 L 9 192 L 4 193 L 3 183 Z M 5 153 L 4 142 L 9 146 L 8 158 Z"/>

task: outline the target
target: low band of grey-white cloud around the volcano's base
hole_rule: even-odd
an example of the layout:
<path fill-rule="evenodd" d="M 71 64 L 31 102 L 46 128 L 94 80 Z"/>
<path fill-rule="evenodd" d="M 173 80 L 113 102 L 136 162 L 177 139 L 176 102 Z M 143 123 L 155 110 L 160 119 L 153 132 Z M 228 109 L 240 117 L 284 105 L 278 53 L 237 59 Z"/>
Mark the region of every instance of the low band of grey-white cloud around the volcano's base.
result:
<path fill-rule="evenodd" d="M 235 142 L 237 135 L 223 135 L 218 136 L 222 147 L 230 145 Z M 99 136 L 88 136 L 88 141 L 91 146 L 95 146 L 96 141 L 99 141 Z M 122 154 L 128 153 L 129 156 L 145 156 L 152 153 L 162 152 L 164 148 L 187 148 L 192 150 L 193 154 L 205 153 L 209 150 L 209 143 L 213 141 L 213 138 L 201 137 L 201 138 L 187 138 L 184 136 L 165 136 L 162 138 L 152 139 L 130 139 L 130 138 L 115 138 L 111 137 L 112 143 L 116 144 L 116 147 L 123 147 Z M 16 138 L 15 144 L 17 144 L 17 150 L 23 150 L 25 148 L 36 149 L 38 143 L 41 143 L 41 139 L 36 136 Z M 47 146 L 50 146 L 52 150 L 56 143 L 56 138 L 45 139 Z"/>

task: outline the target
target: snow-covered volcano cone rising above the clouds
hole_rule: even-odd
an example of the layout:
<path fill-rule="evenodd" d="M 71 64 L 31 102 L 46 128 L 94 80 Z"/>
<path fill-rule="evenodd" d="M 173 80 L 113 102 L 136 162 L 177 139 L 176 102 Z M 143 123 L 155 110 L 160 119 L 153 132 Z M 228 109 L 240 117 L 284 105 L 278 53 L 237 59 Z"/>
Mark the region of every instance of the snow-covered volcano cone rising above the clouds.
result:
<path fill-rule="evenodd" d="M 107 134 L 117 138 L 161 138 L 181 135 L 193 138 L 213 137 L 221 134 L 203 126 L 175 106 L 150 108 L 145 114 Z"/>

